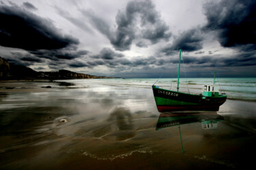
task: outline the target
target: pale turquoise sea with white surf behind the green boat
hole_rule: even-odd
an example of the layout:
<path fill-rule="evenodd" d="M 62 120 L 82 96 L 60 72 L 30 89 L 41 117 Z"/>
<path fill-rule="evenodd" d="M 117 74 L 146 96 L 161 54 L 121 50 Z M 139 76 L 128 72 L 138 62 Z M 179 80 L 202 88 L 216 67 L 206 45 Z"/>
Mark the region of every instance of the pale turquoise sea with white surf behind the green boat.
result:
<path fill-rule="evenodd" d="M 177 90 L 177 78 L 66 80 L 66 82 L 74 82 L 81 88 L 86 86 L 88 81 L 103 86 L 132 88 L 152 88 L 155 84 L 161 88 Z M 256 101 L 256 78 L 216 78 L 215 81 L 213 78 L 180 78 L 180 92 L 200 94 L 203 85 L 212 84 L 217 85 L 220 92 L 227 95 L 227 99 Z"/>

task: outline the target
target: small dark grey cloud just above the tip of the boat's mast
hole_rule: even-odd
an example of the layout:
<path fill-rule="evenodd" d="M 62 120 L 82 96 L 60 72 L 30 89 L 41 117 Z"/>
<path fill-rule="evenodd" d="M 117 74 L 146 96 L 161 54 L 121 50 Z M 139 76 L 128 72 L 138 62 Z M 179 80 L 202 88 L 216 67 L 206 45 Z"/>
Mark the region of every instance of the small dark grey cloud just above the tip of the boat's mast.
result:
<path fill-rule="evenodd" d="M 199 29 L 190 29 L 181 35 L 178 35 L 173 44 L 169 44 L 162 48 L 160 52 L 170 55 L 175 54 L 175 51 L 182 49 L 185 52 L 193 52 L 203 48 L 203 36 Z"/>

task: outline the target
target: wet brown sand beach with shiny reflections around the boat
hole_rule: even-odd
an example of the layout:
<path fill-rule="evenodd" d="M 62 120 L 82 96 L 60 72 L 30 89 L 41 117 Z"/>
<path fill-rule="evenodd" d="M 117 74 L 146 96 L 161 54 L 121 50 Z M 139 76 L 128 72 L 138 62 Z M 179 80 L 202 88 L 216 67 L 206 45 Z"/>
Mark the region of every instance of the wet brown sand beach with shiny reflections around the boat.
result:
<path fill-rule="evenodd" d="M 227 100 L 216 113 L 223 116 L 216 129 L 180 124 L 182 154 L 178 126 L 156 131 L 160 113 L 151 88 L 90 80 L 86 86 L 0 82 L 0 90 L 1 169 L 253 166 L 255 102 Z"/>

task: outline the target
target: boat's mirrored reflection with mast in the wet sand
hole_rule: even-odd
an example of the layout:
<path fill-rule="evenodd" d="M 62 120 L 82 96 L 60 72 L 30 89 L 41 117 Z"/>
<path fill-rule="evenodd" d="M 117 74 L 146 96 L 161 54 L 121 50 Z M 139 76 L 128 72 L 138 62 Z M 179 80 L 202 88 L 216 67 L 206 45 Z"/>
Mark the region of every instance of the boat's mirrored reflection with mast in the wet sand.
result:
<path fill-rule="evenodd" d="M 201 122 L 202 129 L 216 129 L 218 122 L 221 120 L 224 120 L 224 118 L 218 115 L 217 112 L 161 113 L 156 124 L 156 131 L 171 126 L 178 126 L 182 154 L 184 154 L 180 125 Z"/>

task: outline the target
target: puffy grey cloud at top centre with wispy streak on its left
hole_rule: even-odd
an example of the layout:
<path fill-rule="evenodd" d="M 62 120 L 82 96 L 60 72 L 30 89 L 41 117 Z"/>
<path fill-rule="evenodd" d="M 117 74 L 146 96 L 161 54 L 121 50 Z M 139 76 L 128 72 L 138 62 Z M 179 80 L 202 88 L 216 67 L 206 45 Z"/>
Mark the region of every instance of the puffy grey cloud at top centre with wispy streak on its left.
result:
<path fill-rule="evenodd" d="M 134 39 L 145 39 L 156 44 L 161 39 L 171 37 L 169 27 L 161 20 L 152 1 L 130 1 L 126 10 L 119 11 L 116 16 L 117 29 L 111 31 L 109 24 L 96 16 L 93 12 L 81 10 L 85 16 L 91 18 L 94 26 L 109 38 L 115 50 L 130 50 Z M 141 46 L 142 44 L 137 44 Z"/>

